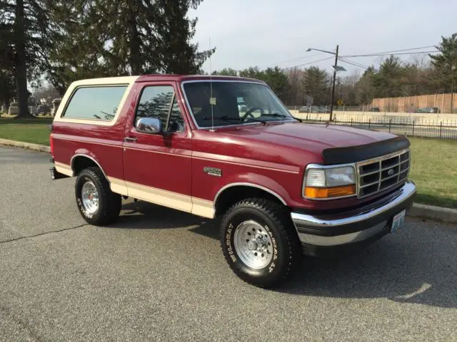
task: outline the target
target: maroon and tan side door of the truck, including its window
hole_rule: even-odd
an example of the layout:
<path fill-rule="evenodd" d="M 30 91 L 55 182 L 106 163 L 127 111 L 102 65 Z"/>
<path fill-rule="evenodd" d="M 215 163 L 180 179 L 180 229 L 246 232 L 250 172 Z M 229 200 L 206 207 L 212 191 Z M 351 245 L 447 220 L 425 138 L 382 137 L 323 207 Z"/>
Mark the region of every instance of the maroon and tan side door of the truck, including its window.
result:
<path fill-rule="evenodd" d="M 175 82 L 139 89 L 126 125 L 124 180 L 131 197 L 191 212 L 191 131 L 177 93 Z M 141 131 L 141 118 L 158 118 L 161 132 Z"/>

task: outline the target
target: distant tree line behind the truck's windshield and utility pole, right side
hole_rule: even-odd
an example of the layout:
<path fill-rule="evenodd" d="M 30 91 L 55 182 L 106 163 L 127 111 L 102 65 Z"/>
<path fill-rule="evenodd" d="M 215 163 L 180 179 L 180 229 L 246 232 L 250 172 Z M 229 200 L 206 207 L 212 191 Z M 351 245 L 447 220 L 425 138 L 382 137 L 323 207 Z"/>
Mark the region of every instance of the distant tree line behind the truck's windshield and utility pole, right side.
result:
<path fill-rule="evenodd" d="M 457 88 L 457 33 L 442 37 L 438 53 L 429 59 L 403 62 L 397 56 L 381 61 L 378 68 L 369 66 L 363 73 L 355 71 L 336 79 L 335 103 L 345 105 L 371 103 L 373 98 L 391 98 L 434 93 L 453 93 Z M 340 62 L 342 63 L 342 62 Z M 304 105 L 313 98 L 315 105 L 331 103 L 332 75 L 316 66 L 281 69 L 258 67 L 236 71 L 224 68 L 215 75 L 257 78 L 268 83 L 286 105 Z"/>

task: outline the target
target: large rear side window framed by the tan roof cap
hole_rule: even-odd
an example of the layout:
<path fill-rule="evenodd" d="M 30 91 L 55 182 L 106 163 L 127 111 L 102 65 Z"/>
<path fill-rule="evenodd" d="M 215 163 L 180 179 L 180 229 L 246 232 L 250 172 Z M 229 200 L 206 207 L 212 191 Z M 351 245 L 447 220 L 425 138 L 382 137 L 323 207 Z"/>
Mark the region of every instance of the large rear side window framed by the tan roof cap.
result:
<path fill-rule="evenodd" d="M 116 115 L 126 89 L 127 86 L 77 88 L 62 116 L 111 121 Z"/>

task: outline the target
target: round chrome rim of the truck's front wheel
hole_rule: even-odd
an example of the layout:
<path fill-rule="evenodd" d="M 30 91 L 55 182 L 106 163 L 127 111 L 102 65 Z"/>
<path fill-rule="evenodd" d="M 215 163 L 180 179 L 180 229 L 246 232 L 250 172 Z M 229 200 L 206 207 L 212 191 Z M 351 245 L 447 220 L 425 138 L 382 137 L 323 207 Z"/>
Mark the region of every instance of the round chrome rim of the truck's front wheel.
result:
<path fill-rule="evenodd" d="M 253 220 L 241 222 L 233 234 L 236 254 L 251 269 L 263 269 L 273 258 L 273 242 L 265 227 Z"/>

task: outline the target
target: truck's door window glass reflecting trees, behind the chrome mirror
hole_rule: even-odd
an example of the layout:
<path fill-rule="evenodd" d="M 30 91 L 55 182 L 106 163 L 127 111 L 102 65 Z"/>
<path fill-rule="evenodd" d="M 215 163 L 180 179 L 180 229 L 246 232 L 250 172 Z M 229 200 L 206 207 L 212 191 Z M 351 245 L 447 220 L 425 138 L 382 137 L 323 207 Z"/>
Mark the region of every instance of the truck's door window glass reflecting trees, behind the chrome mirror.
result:
<path fill-rule="evenodd" d="M 141 118 L 158 118 L 161 120 L 162 130 L 165 130 L 166 120 L 169 118 L 171 100 L 174 100 L 174 102 L 171 106 L 169 132 L 184 131 L 184 119 L 176 98 L 174 98 L 172 86 L 149 86 L 144 88 L 136 110 L 135 123 Z"/>

